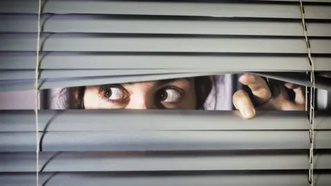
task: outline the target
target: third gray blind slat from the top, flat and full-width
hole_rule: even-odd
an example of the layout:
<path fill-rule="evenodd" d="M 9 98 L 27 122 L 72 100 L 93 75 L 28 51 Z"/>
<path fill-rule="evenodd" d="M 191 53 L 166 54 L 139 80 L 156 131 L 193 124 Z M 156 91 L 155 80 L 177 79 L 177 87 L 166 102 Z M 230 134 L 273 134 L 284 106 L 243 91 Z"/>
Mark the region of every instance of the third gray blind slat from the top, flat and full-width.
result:
<path fill-rule="evenodd" d="M 34 34 L 0 34 L 0 51 L 34 51 Z M 310 39 L 312 53 L 331 54 L 331 39 Z M 70 52 L 241 52 L 305 54 L 303 39 L 229 37 L 108 37 L 93 34 L 48 34 L 42 51 Z"/>

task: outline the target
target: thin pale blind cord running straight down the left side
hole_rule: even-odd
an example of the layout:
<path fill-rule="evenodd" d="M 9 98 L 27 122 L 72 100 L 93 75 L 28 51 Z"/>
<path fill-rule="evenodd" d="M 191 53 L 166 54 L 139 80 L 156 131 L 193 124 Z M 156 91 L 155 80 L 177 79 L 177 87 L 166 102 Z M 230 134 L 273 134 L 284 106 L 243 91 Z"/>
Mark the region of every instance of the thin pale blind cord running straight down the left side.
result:
<path fill-rule="evenodd" d="M 34 92 L 35 92 L 35 120 L 36 120 L 36 185 L 39 186 L 39 123 L 38 123 L 38 110 L 39 110 L 39 42 L 40 42 L 40 17 L 41 17 L 41 0 L 38 6 L 38 21 L 37 21 L 37 50 L 36 50 L 36 70 L 34 77 Z"/>

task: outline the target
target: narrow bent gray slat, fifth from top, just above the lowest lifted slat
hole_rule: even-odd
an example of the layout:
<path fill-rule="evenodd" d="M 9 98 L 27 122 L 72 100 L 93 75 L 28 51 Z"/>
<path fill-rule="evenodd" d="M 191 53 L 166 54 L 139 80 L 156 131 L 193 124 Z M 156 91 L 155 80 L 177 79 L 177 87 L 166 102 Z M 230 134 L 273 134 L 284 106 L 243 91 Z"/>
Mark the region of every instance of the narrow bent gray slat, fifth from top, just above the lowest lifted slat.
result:
<path fill-rule="evenodd" d="M 233 73 L 233 72 L 214 72 L 214 70 L 190 70 L 190 69 L 155 69 L 155 70 L 42 70 L 39 73 L 40 79 L 70 79 L 70 78 L 86 78 L 86 77 L 101 77 L 101 76 L 113 76 L 114 78 L 118 76 L 143 76 L 143 75 L 158 75 L 158 74 L 184 74 L 184 73 L 215 73 L 217 75 Z M 19 71 L 1 71 L 0 70 L 0 80 L 1 81 L 14 81 L 26 79 L 30 81 L 34 79 L 35 72 L 33 70 L 19 70 Z M 303 73 L 293 73 L 293 72 L 251 72 L 259 76 L 266 76 L 272 79 L 277 79 L 279 81 L 286 81 L 290 83 L 297 83 L 298 85 L 311 86 L 310 81 L 308 81 L 308 76 Z M 316 87 L 325 90 L 331 89 L 331 85 L 328 82 L 328 78 L 317 76 Z M 323 82 L 325 81 L 325 82 Z"/>

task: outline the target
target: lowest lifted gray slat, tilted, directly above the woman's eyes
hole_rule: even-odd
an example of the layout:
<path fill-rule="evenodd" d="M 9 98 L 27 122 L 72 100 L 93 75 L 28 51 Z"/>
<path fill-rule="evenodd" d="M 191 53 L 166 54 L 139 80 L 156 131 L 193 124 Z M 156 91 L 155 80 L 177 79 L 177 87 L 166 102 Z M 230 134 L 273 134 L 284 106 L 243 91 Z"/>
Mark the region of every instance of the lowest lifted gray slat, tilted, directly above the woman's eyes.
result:
<path fill-rule="evenodd" d="M 39 89 L 48 89 L 54 87 L 74 87 L 74 86 L 86 86 L 86 85 L 103 85 L 110 83 L 132 83 L 139 81 L 155 81 L 161 79 L 177 79 L 193 76 L 211 76 L 217 74 L 223 74 L 224 72 L 188 72 L 188 73 L 172 73 L 172 74 L 142 74 L 142 75 L 128 75 L 128 76 L 96 76 L 96 77 L 77 77 L 71 79 L 39 79 Z M 304 74 L 285 74 L 284 77 L 279 74 L 268 74 L 267 72 L 252 72 L 254 74 L 261 74 L 265 77 L 278 79 L 280 81 L 287 81 L 288 83 L 294 83 L 297 85 L 303 85 L 312 87 L 312 83 Z M 297 77 L 295 77 L 297 75 Z M 317 76 L 316 88 L 323 90 L 331 90 L 330 79 Z M 12 80 L 2 81 L 0 83 L 0 90 L 2 91 L 14 91 L 14 90 L 29 90 L 34 86 L 32 79 L 25 80 Z"/>

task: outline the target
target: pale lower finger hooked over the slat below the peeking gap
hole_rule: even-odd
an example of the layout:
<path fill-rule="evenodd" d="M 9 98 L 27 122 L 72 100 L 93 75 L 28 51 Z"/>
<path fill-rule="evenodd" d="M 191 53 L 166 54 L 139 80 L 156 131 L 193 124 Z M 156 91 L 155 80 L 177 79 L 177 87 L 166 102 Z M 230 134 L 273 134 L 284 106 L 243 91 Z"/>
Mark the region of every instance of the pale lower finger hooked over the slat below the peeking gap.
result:
<path fill-rule="evenodd" d="M 255 109 L 250 96 L 244 90 L 235 92 L 232 96 L 232 102 L 243 118 L 249 119 L 255 115 Z"/>

